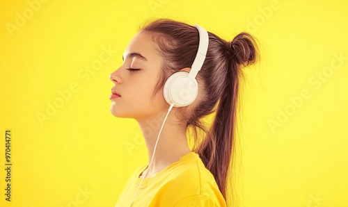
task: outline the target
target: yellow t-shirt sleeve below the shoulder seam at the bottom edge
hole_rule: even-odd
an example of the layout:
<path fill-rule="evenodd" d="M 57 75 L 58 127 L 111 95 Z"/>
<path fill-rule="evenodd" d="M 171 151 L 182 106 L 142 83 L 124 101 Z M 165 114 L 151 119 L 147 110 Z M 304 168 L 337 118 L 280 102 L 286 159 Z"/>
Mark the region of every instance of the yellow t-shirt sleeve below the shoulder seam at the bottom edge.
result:
<path fill-rule="evenodd" d="M 205 195 L 193 195 L 182 199 L 175 204 L 175 207 L 198 207 L 198 206 L 221 206 L 219 202 L 214 201 L 212 198 Z"/>

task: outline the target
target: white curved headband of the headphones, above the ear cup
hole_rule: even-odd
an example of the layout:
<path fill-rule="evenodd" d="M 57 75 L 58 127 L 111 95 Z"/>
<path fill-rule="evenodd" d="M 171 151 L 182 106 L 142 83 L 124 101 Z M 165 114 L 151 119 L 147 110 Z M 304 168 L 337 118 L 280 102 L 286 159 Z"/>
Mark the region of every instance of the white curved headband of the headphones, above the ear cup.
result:
<path fill-rule="evenodd" d="M 198 29 L 199 33 L 198 51 L 195 60 L 193 60 L 191 71 L 189 72 L 189 77 L 194 79 L 196 78 L 198 72 L 202 68 L 205 56 L 207 55 L 209 35 L 205 28 L 198 25 L 193 26 L 195 26 Z"/>

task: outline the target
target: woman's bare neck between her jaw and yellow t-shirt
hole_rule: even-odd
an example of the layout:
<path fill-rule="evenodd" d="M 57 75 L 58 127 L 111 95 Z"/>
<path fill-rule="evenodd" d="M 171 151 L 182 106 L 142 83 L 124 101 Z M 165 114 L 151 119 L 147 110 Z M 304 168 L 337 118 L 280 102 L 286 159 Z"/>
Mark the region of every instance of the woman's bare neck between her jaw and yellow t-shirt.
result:
<path fill-rule="evenodd" d="M 159 131 L 167 112 L 161 112 L 156 117 L 147 117 L 145 120 L 137 120 L 143 132 L 146 147 L 148 148 L 149 164 L 159 135 L 159 141 L 152 163 L 150 167 L 146 169 L 146 177 L 154 176 L 191 151 L 187 143 L 186 123 L 180 123 L 175 116 L 175 112 L 176 108 L 173 108 L 169 113 L 160 135 Z"/>

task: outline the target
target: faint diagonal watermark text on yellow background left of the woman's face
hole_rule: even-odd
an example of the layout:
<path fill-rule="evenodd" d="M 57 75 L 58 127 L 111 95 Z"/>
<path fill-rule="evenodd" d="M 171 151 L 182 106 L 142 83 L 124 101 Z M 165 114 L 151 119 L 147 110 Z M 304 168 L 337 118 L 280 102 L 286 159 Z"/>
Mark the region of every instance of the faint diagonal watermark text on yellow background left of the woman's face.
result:
<path fill-rule="evenodd" d="M 81 80 L 83 83 L 88 83 L 90 81 L 90 78 L 92 76 L 95 76 L 97 71 L 100 71 L 102 69 L 102 66 L 104 63 L 107 63 L 115 56 L 116 50 L 113 50 L 111 46 L 105 47 L 102 46 L 102 52 L 96 58 L 95 60 L 91 61 L 89 65 L 84 65 L 84 68 L 79 69 L 79 72 L 77 72 L 77 78 Z M 46 101 L 46 108 L 44 112 L 37 112 L 36 118 L 38 119 L 38 122 L 41 126 L 44 126 L 45 122 L 56 113 L 58 113 L 58 110 L 63 108 L 65 104 L 67 104 L 70 99 L 72 99 L 73 95 L 76 94 L 81 90 L 81 83 L 73 81 L 68 85 L 67 88 L 63 90 L 56 90 L 57 97 L 54 98 L 52 101 Z"/>

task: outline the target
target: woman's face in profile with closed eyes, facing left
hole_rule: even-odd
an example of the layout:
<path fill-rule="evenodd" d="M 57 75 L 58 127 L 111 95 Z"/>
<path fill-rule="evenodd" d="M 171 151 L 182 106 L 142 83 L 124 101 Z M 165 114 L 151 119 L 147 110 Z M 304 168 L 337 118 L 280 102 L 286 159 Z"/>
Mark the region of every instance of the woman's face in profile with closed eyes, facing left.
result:
<path fill-rule="evenodd" d="M 169 107 L 163 97 L 163 90 L 156 94 L 153 102 L 150 100 L 157 85 L 162 61 L 150 42 L 150 35 L 137 33 L 123 53 L 123 64 L 110 74 L 112 91 L 120 94 L 120 97 L 110 97 L 110 109 L 115 117 L 146 119 L 157 116 L 159 111 Z M 129 68 L 139 70 L 129 71 Z"/>

